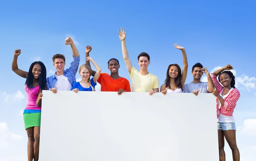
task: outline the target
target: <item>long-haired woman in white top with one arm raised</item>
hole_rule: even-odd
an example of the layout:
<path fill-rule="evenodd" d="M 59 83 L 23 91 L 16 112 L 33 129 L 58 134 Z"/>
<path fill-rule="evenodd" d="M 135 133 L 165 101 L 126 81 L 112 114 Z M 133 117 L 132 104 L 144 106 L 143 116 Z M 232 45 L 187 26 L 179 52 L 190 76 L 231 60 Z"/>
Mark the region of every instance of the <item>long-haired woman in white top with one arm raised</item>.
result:
<path fill-rule="evenodd" d="M 185 48 L 174 44 L 175 48 L 180 49 L 183 55 L 183 71 L 181 73 L 180 66 L 177 64 L 171 64 L 168 66 L 166 72 L 165 83 L 161 85 L 160 91 L 164 95 L 166 93 L 183 93 L 184 83 L 186 81 L 186 75 L 188 71 L 188 60 L 186 56 Z"/>

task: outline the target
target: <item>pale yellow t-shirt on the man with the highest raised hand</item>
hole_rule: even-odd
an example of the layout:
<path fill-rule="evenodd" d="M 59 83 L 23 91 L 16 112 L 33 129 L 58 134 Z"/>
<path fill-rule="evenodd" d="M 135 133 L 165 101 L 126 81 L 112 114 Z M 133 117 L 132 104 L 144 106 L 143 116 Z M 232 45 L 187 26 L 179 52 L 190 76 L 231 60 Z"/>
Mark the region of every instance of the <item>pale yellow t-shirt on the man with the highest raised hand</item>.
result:
<path fill-rule="evenodd" d="M 159 81 L 157 76 L 151 73 L 143 76 L 134 67 L 131 69 L 130 78 L 132 92 L 149 92 L 153 88 L 159 88 Z"/>

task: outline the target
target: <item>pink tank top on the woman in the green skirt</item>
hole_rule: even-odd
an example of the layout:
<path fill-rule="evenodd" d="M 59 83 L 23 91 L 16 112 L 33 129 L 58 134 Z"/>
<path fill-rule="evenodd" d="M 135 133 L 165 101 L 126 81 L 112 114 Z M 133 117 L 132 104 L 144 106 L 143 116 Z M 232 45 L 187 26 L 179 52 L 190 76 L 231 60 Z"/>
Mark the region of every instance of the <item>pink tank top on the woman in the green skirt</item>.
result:
<path fill-rule="evenodd" d="M 36 105 L 36 100 L 38 98 L 40 86 L 36 86 L 35 88 L 28 88 L 25 85 L 25 91 L 27 94 L 27 102 L 25 110 L 41 110 L 41 107 Z"/>

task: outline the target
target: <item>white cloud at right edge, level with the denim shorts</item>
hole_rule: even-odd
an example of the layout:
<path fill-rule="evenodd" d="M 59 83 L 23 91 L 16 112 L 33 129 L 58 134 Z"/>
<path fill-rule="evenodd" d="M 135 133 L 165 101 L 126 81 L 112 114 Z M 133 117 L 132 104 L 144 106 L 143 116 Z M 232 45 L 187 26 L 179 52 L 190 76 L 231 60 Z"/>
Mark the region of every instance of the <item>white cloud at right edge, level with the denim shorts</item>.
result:
<path fill-rule="evenodd" d="M 256 119 L 246 119 L 244 120 L 241 133 L 246 136 L 256 137 Z"/>

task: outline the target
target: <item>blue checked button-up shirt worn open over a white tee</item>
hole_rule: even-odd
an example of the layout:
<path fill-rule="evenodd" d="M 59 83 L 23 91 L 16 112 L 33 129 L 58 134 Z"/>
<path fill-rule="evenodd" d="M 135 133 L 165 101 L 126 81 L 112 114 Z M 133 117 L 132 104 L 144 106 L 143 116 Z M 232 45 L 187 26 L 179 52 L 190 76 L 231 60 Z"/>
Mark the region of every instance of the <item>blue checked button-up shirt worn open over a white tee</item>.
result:
<path fill-rule="evenodd" d="M 71 87 L 73 87 L 73 84 L 76 82 L 76 72 L 79 67 L 79 62 L 80 62 L 80 55 L 77 57 L 72 56 L 72 62 L 70 63 L 70 68 L 67 70 L 64 70 L 63 76 L 67 77 L 68 81 L 70 82 Z M 55 82 L 58 81 L 56 78 L 56 72 L 54 75 L 49 76 L 47 79 L 47 90 L 49 88 L 54 88 Z"/>

